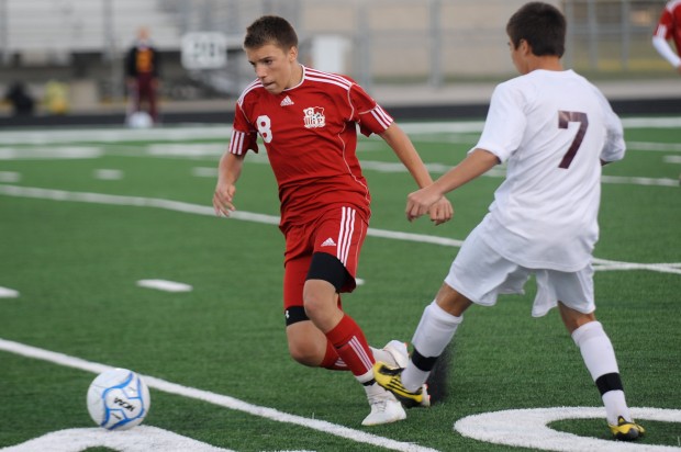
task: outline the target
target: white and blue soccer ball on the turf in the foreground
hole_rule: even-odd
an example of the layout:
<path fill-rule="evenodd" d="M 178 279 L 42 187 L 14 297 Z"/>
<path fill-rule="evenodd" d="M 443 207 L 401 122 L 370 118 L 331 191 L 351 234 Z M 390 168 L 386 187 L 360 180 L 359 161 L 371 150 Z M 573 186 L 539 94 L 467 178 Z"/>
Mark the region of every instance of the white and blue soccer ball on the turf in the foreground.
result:
<path fill-rule="evenodd" d="M 144 381 L 127 369 L 111 369 L 99 374 L 88 388 L 88 411 L 100 427 L 127 430 L 142 423 L 152 399 Z"/>

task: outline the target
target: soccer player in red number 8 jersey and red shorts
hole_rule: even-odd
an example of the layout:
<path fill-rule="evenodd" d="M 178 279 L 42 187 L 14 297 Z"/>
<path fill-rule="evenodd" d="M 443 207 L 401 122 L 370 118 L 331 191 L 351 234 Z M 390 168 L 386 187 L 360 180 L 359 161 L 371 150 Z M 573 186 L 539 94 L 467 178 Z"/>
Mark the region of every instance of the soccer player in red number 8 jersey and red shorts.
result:
<path fill-rule="evenodd" d="M 400 403 L 373 381 L 375 354 L 390 351 L 405 363 L 406 348 L 391 341 L 370 348 L 339 294 L 355 289 L 367 235 L 370 194 L 356 155 L 357 126 L 386 140 L 420 188 L 432 183 L 423 161 L 393 118 L 351 79 L 298 61 L 298 37 L 284 19 L 265 15 L 247 29 L 244 48 L 257 79 L 236 104 L 234 129 L 220 160 L 213 205 L 235 210 L 236 182 L 259 135 L 275 172 L 286 237 L 283 308 L 291 357 L 301 364 L 349 370 L 367 393 L 371 413 L 362 425 L 404 419 Z M 443 197 L 429 211 L 451 218 Z M 399 350 L 395 350 L 399 349 Z"/>

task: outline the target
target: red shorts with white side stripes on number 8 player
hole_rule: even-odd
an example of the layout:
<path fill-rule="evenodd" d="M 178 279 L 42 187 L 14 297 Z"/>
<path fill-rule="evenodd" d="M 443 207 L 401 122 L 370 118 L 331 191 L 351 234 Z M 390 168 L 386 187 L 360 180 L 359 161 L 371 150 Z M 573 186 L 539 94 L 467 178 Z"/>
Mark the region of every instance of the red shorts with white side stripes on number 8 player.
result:
<path fill-rule="evenodd" d="M 305 276 L 315 252 L 335 256 L 345 265 L 350 278 L 340 292 L 353 292 L 367 228 L 361 213 L 349 206 L 327 211 L 313 223 L 289 227 L 284 233 L 283 308 L 303 305 Z"/>

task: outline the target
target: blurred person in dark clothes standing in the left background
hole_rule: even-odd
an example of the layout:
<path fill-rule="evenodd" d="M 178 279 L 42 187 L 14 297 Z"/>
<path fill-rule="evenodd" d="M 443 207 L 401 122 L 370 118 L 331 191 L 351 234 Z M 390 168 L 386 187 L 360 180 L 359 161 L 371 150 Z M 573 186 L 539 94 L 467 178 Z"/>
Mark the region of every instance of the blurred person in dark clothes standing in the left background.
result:
<path fill-rule="evenodd" d="M 158 87 L 160 80 L 160 56 L 149 39 L 149 31 L 139 29 L 137 39 L 125 57 L 125 76 L 130 95 L 129 118 L 142 111 L 142 103 L 148 108 L 152 122 L 158 122 Z"/>

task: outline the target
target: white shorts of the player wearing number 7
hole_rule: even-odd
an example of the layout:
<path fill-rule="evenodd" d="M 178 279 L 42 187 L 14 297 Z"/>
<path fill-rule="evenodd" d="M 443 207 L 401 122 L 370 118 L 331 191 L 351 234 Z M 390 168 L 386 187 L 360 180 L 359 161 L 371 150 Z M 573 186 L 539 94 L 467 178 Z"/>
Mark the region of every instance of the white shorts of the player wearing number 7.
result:
<path fill-rule="evenodd" d="M 445 278 L 445 283 L 461 295 L 476 304 L 493 306 L 500 294 L 525 293 L 523 287 L 534 274 L 537 280 L 534 317 L 546 315 L 558 301 L 583 314 L 595 310 L 591 263 L 576 272 L 521 267 L 492 249 L 479 229 L 466 238 Z"/>

